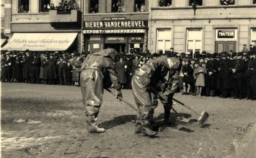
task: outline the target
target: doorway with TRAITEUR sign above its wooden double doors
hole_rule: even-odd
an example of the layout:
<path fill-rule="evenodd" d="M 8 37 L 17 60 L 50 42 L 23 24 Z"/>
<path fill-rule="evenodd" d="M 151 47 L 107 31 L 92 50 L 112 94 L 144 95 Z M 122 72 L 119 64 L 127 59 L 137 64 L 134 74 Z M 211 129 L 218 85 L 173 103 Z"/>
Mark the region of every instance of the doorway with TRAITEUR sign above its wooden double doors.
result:
<path fill-rule="evenodd" d="M 237 29 L 216 29 L 215 52 L 236 52 Z"/>

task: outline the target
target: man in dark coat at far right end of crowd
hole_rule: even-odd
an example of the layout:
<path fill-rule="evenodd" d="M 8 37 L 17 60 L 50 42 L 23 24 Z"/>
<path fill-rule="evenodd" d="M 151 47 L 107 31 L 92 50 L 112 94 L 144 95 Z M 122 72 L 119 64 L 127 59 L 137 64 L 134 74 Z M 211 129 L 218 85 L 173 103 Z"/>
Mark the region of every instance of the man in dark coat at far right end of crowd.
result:
<path fill-rule="evenodd" d="M 256 52 L 249 52 L 250 59 L 248 60 L 245 71 L 246 78 L 246 99 L 256 99 Z"/>

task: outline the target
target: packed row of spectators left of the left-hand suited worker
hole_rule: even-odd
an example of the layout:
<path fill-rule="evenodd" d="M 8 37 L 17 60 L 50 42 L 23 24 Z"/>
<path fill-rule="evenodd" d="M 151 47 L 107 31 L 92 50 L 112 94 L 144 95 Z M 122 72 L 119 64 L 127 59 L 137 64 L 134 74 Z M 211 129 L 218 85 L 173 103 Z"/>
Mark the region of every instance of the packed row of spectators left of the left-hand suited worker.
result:
<path fill-rule="evenodd" d="M 1 58 L 2 82 L 79 85 L 83 55 L 6 52 Z"/>

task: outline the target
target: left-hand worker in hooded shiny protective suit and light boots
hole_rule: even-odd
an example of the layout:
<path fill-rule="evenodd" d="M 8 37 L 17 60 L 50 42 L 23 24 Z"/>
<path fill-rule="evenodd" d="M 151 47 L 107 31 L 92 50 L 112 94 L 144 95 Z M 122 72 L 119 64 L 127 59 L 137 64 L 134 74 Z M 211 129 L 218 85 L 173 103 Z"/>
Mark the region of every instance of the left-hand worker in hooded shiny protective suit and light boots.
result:
<path fill-rule="evenodd" d="M 104 88 L 113 85 L 116 97 L 122 97 L 121 85 L 118 83 L 114 66 L 117 56 L 118 52 L 115 49 L 108 48 L 88 55 L 81 66 L 80 85 L 89 133 L 105 131 L 104 128 L 97 126 Z"/>

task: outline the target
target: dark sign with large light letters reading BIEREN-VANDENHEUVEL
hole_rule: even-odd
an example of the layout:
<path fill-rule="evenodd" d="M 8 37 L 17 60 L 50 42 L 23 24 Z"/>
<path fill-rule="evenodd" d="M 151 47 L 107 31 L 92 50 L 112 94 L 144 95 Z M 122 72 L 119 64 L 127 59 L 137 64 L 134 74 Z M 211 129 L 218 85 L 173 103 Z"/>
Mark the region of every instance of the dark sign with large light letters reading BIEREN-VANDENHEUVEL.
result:
<path fill-rule="evenodd" d="M 122 21 L 98 21 L 98 22 L 84 22 L 86 29 L 106 29 L 106 28 L 138 28 L 147 27 L 147 20 L 122 20 Z"/>

